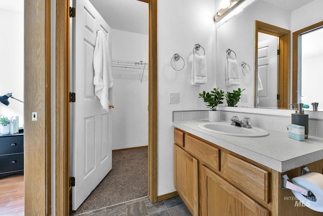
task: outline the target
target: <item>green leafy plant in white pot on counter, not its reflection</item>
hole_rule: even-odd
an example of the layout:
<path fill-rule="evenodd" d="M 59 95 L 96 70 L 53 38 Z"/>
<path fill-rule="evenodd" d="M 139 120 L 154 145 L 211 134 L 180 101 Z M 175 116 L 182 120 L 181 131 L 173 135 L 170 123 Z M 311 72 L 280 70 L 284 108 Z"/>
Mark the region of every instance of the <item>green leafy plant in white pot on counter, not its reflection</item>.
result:
<path fill-rule="evenodd" d="M 208 120 L 209 121 L 220 121 L 220 111 L 217 111 L 217 106 L 223 104 L 224 92 L 214 88 L 213 91 L 202 94 L 199 94 L 199 98 L 203 98 L 203 101 L 206 103 L 206 107 L 211 110 L 208 111 Z"/>

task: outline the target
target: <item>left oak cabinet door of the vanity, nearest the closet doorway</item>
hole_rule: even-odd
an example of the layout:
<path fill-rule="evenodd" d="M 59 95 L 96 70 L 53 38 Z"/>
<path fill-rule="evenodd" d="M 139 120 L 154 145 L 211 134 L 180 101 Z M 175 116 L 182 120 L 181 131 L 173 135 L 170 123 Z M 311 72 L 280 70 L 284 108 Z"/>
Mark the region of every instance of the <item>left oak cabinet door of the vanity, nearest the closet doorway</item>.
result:
<path fill-rule="evenodd" d="M 198 215 L 197 160 L 174 144 L 174 187 L 193 215 Z"/>

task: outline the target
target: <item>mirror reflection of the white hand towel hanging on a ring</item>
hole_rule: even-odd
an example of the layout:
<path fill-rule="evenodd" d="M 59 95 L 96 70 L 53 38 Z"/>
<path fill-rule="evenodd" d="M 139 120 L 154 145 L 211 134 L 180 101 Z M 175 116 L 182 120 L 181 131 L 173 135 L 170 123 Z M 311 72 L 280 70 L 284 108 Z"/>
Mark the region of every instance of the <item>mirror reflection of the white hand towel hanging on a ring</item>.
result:
<path fill-rule="evenodd" d="M 236 59 L 233 59 L 230 55 L 227 56 L 225 74 L 227 86 L 240 84 L 238 62 Z"/>

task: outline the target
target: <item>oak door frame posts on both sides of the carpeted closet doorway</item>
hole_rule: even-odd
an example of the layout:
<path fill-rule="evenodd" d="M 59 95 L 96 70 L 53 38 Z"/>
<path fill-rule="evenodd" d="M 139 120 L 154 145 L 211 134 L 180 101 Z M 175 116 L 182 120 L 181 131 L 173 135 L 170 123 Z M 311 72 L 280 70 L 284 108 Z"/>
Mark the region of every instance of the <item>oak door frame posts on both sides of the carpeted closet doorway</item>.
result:
<path fill-rule="evenodd" d="M 145 2 L 145 1 L 144 1 Z M 69 0 L 56 0 L 56 214 L 69 213 Z M 148 196 L 157 201 L 157 0 L 148 1 Z M 77 14 L 77 13 L 76 13 Z"/>

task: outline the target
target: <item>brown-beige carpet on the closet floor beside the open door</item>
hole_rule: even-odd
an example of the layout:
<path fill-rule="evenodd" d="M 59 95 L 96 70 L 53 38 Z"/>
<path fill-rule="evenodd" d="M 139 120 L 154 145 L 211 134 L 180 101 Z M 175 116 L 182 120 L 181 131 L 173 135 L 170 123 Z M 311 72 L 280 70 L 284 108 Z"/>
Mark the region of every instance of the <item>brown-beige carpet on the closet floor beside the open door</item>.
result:
<path fill-rule="evenodd" d="M 112 170 L 76 211 L 76 215 L 147 196 L 147 148 L 112 153 Z"/>

